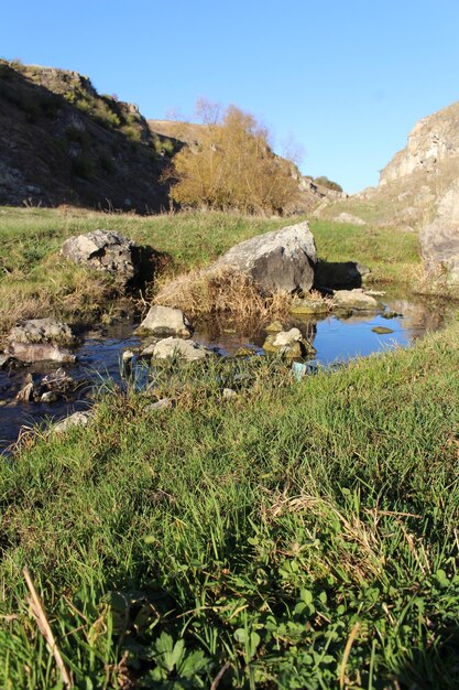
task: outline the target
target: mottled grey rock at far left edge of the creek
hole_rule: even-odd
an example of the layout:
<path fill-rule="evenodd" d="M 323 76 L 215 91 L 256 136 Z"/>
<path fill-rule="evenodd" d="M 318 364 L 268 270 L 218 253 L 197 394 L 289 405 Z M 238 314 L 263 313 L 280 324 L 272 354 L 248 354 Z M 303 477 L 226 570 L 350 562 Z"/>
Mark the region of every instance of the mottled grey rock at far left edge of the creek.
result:
<path fill-rule="evenodd" d="M 21 362 L 75 362 L 67 347 L 77 342 L 67 324 L 55 319 L 32 319 L 11 330 L 7 354 Z"/>

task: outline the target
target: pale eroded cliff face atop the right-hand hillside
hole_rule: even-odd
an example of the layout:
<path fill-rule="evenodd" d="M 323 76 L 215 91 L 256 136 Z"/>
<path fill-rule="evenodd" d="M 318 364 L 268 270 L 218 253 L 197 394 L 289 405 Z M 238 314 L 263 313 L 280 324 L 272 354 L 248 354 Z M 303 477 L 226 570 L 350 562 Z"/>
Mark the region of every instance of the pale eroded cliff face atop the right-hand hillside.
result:
<path fill-rule="evenodd" d="M 441 161 L 459 157 L 459 103 L 419 120 L 398 151 L 380 173 L 380 186 L 414 172 L 435 173 Z"/>

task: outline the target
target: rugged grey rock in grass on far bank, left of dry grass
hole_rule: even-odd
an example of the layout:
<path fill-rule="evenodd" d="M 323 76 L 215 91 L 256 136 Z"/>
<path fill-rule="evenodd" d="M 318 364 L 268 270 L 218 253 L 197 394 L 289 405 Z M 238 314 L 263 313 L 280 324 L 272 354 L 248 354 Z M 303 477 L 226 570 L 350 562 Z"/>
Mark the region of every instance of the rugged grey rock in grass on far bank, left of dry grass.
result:
<path fill-rule="evenodd" d="M 112 230 L 69 237 L 61 254 L 75 263 L 108 271 L 127 284 L 140 271 L 140 247 Z"/>

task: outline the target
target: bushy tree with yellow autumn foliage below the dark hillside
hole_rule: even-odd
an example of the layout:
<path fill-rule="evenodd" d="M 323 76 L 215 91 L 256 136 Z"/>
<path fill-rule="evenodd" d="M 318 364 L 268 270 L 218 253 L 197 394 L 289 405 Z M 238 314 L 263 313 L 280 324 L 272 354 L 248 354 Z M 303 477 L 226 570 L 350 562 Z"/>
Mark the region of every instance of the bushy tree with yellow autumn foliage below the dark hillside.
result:
<path fill-rule="evenodd" d="M 184 206 L 284 213 L 298 194 L 295 165 L 272 152 L 253 116 L 230 106 L 218 118 L 215 106 L 200 108 L 199 141 L 173 160 L 172 198 Z"/>

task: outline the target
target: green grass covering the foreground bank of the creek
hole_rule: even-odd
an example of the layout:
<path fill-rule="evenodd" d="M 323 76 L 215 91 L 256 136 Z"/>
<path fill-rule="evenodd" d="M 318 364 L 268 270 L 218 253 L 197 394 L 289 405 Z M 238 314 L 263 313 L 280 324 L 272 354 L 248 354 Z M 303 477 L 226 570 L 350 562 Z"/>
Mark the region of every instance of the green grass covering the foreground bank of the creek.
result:
<path fill-rule="evenodd" d="M 457 688 L 457 338 L 161 369 L 7 460 L 2 687 L 62 687 L 28 565 L 78 688 Z"/>

